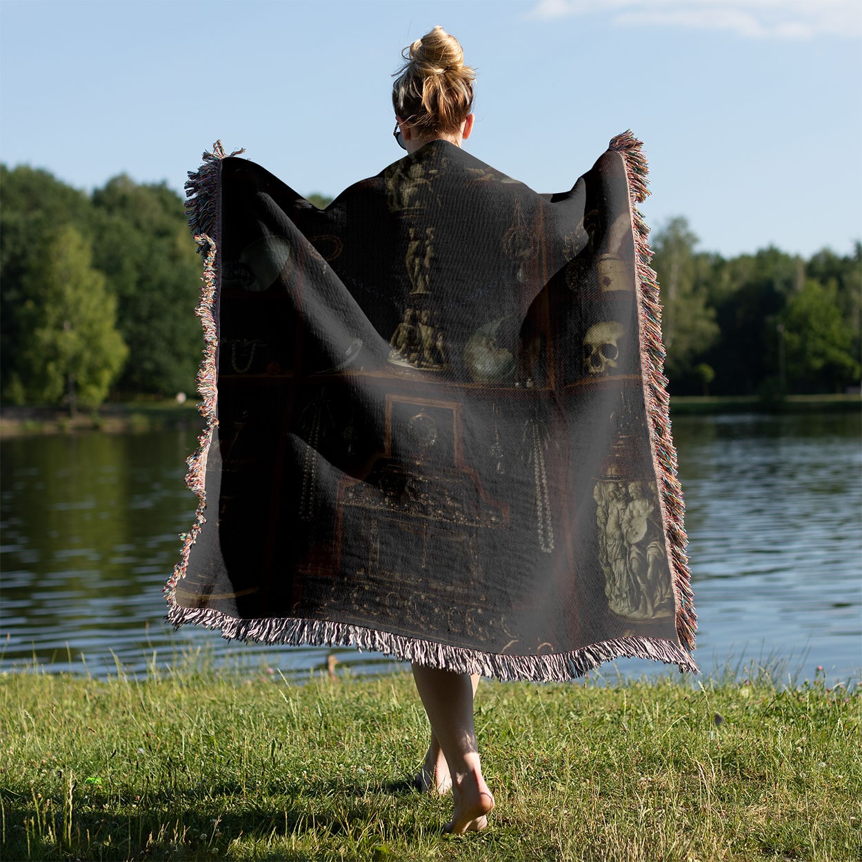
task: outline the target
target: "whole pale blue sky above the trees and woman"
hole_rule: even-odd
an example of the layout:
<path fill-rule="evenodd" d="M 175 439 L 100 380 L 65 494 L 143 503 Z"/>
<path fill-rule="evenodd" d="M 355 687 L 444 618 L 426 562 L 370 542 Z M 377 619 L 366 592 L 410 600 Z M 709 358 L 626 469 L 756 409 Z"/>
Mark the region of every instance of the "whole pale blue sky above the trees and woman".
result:
<path fill-rule="evenodd" d="M 334 195 L 401 155 L 390 75 L 438 23 L 478 71 L 467 148 L 536 191 L 632 128 L 653 228 L 726 256 L 862 237 L 859 0 L 0 0 L 0 158 L 179 191 L 221 138 Z"/>

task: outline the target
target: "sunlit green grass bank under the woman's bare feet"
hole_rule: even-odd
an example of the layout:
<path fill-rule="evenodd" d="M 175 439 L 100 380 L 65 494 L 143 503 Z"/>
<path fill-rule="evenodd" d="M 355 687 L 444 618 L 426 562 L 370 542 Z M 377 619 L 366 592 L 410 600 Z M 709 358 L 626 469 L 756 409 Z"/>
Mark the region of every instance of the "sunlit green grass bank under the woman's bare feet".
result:
<path fill-rule="evenodd" d="M 409 787 L 412 679 L 0 678 L 3 859 L 859 859 L 859 686 L 484 682 L 490 828 Z"/>

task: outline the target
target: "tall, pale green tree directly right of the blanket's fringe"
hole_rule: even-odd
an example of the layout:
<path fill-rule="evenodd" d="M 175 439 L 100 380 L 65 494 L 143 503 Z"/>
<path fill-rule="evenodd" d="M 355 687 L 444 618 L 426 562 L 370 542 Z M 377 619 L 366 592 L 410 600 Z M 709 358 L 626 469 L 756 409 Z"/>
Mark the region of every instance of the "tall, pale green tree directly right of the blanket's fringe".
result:
<path fill-rule="evenodd" d="M 662 334 L 667 350 L 665 369 L 671 379 L 695 379 L 695 360 L 718 337 L 715 309 L 709 306 L 707 284 L 712 271 L 709 254 L 696 253 L 697 237 L 678 217 L 653 239 L 653 268 L 659 275 Z"/>

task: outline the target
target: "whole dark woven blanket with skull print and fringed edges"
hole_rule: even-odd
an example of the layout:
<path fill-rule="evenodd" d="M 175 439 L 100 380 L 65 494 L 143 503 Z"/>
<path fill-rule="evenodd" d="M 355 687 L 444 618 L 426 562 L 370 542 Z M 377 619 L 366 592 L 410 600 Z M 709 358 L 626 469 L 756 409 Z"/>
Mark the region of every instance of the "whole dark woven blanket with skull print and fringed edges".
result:
<path fill-rule="evenodd" d="M 214 150 L 169 621 L 502 679 L 696 672 L 640 141 L 554 195 L 432 141 L 323 210 Z"/>

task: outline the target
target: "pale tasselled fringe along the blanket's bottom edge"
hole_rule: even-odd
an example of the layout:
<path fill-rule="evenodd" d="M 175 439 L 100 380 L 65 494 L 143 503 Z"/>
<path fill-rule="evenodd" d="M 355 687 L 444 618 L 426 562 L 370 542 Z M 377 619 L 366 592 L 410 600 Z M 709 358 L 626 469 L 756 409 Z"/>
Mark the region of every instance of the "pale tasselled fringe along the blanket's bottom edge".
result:
<path fill-rule="evenodd" d="M 571 653 L 547 655 L 505 655 L 451 647 L 431 640 L 375 631 L 343 622 L 322 622 L 290 617 L 240 620 L 206 608 L 172 605 L 168 622 L 179 627 L 195 623 L 217 628 L 228 640 L 256 640 L 268 644 L 311 647 L 356 647 L 383 653 L 395 659 L 445 668 L 456 673 L 479 673 L 503 681 L 530 679 L 536 682 L 565 682 L 613 659 L 652 659 L 678 665 L 679 671 L 697 672 L 690 655 L 677 644 L 661 638 L 627 637 L 603 640 Z"/>

